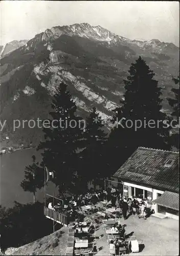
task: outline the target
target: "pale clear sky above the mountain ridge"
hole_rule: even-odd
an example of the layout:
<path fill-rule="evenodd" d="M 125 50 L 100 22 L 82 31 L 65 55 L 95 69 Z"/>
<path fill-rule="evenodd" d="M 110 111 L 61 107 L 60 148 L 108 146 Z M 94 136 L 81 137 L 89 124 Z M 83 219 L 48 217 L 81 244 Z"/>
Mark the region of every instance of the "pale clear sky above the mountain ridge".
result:
<path fill-rule="evenodd" d="M 54 26 L 89 23 L 129 39 L 179 46 L 179 3 L 152 1 L 1 1 L 1 41 L 31 39 Z"/>

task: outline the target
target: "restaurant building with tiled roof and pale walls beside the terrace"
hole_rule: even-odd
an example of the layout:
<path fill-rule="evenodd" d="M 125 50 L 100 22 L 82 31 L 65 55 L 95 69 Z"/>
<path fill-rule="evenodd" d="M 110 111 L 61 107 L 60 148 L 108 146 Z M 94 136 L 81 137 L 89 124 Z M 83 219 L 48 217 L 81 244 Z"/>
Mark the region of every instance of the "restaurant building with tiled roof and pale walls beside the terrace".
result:
<path fill-rule="evenodd" d="M 146 198 L 155 216 L 179 216 L 179 153 L 153 148 L 137 150 L 113 175 L 123 184 L 123 195 Z"/>

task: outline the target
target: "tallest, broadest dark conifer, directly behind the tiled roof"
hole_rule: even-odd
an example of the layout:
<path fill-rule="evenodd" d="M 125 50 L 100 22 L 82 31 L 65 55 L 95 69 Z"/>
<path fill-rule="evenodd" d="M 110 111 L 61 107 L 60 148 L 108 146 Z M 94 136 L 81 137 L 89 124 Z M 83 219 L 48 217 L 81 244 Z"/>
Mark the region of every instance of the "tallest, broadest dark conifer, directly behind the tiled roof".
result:
<path fill-rule="evenodd" d="M 153 71 L 139 57 L 128 72 L 124 100 L 115 110 L 116 123 L 108 139 L 109 163 L 114 171 L 138 146 L 170 149 L 170 128 L 163 124 L 168 118 L 161 112 L 162 93 L 158 81 L 153 79 Z"/>

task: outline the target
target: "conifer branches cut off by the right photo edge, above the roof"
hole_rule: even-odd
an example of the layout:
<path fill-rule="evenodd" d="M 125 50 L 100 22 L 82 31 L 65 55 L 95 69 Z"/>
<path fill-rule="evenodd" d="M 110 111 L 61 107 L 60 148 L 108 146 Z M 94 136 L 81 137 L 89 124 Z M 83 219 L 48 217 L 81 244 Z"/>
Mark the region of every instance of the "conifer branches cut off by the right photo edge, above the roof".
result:
<path fill-rule="evenodd" d="M 173 78 L 175 84 L 179 84 L 179 76 L 177 78 Z M 168 102 L 172 107 L 173 111 L 171 116 L 175 118 L 177 125 L 179 123 L 179 88 L 172 88 L 171 92 L 174 94 L 174 98 L 168 98 Z M 179 129 L 178 129 L 179 131 Z M 173 133 L 171 136 L 172 145 L 176 148 L 179 148 L 179 134 Z"/>

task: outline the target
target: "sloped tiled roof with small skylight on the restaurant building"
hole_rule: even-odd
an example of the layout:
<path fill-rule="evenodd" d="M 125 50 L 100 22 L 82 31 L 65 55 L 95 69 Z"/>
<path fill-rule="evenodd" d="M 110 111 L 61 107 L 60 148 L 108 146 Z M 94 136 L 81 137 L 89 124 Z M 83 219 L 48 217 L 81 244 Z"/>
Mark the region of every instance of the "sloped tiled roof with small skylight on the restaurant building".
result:
<path fill-rule="evenodd" d="M 179 153 L 138 147 L 113 175 L 134 182 L 174 192 L 179 191 Z M 171 165 L 166 165 L 173 160 Z"/>

